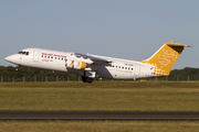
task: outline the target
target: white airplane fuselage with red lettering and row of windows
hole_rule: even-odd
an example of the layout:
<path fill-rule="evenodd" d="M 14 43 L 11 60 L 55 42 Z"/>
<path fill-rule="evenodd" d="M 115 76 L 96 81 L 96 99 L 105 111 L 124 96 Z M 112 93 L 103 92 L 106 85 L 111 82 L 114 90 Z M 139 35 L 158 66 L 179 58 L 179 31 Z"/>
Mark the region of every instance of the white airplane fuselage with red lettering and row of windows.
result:
<path fill-rule="evenodd" d="M 6 59 L 15 65 L 67 72 L 70 74 L 78 74 L 87 77 L 103 77 L 113 79 L 135 79 L 150 77 L 155 66 L 135 61 L 119 59 L 113 57 L 92 55 L 97 58 L 107 59 L 112 63 L 95 63 L 88 57 L 76 56 L 72 52 L 57 52 L 41 48 L 25 48 L 22 54 L 8 56 Z M 66 65 L 66 61 L 84 62 L 86 68 L 75 69 Z"/>

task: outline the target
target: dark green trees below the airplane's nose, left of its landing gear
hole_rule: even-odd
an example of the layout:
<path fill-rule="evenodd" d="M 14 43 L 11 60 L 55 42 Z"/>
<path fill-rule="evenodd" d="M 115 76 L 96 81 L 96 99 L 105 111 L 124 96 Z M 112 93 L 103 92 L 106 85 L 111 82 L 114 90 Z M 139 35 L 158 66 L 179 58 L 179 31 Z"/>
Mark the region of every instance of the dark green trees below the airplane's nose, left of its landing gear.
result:
<path fill-rule="evenodd" d="M 69 81 L 80 80 L 77 75 L 29 67 L 0 66 L 1 81 Z"/>

